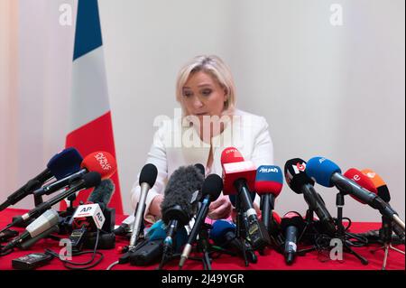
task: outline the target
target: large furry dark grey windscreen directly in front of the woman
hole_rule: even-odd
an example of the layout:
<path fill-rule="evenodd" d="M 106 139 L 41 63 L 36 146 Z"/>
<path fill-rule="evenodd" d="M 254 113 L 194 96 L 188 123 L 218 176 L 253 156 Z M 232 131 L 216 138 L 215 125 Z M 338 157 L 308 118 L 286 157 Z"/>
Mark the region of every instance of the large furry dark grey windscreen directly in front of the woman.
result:
<path fill-rule="evenodd" d="M 198 200 L 201 198 L 203 175 L 193 165 L 181 166 L 171 174 L 161 203 L 162 220 L 168 224 L 174 214 L 183 213 L 180 222 L 189 222 L 196 213 Z"/>

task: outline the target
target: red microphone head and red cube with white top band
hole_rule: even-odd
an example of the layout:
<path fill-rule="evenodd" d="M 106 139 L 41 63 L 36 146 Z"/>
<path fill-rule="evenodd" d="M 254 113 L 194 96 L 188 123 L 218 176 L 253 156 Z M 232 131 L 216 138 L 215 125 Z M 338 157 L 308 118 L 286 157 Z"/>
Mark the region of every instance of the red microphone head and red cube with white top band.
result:
<path fill-rule="evenodd" d="M 251 161 L 245 161 L 244 157 L 235 147 L 228 147 L 221 153 L 221 165 L 223 167 L 223 194 L 235 195 L 235 181 L 245 179 L 248 190 L 255 187 L 256 167 Z"/>

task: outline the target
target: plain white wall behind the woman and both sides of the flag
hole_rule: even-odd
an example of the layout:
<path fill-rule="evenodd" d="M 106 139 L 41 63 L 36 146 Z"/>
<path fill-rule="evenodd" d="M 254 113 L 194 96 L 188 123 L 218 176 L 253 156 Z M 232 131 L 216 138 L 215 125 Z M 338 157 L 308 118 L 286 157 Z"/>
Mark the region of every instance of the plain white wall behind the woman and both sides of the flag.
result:
<path fill-rule="evenodd" d="M 45 1 L 19 1 L 18 88 L 25 104 L 15 111 L 20 124 L 14 156 L 24 165 L 7 172 L 0 163 L 1 172 L 19 184 L 63 147 L 67 129 L 66 110 L 52 109 L 69 96 L 74 30 L 52 21 L 60 4 L 74 1 Z M 332 4 L 342 8 L 342 25 L 330 22 Z M 215 53 L 233 70 L 237 106 L 267 118 L 275 164 L 323 155 L 343 172 L 372 168 L 387 182 L 392 206 L 404 219 L 404 1 L 99 0 L 99 8 L 126 212 L 152 143 L 153 119 L 172 116 L 178 107 L 174 83 L 180 66 Z M 0 151 L 14 146 L 3 135 Z M 0 200 L 18 186 L 0 185 Z M 336 215 L 336 191 L 316 189 Z M 285 185 L 278 212 L 304 208 L 302 197 Z M 380 220 L 374 209 L 350 198 L 345 215 Z"/>

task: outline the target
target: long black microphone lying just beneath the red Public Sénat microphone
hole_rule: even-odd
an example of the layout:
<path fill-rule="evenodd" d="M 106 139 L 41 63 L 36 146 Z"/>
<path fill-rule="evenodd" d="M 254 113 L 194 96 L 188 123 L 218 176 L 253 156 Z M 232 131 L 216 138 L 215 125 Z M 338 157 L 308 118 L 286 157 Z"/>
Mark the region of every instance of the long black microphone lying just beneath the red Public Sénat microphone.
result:
<path fill-rule="evenodd" d="M 11 226 L 18 225 L 23 221 L 31 218 L 36 218 L 48 209 L 51 209 L 53 205 L 59 203 L 61 200 L 69 197 L 71 194 L 77 192 L 78 190 L 84 190 L 91 187 L 97 186 L 101 181 L 100 174 L 98 172 L 88 172 L 83 176 L 83 179 L 72 185 L 69 190 L 61 192 L 59 195 L 53 197 L 51 200 L 41 203 L 36 208 L 28 211 L 20 217 L 14 219 Z"/>

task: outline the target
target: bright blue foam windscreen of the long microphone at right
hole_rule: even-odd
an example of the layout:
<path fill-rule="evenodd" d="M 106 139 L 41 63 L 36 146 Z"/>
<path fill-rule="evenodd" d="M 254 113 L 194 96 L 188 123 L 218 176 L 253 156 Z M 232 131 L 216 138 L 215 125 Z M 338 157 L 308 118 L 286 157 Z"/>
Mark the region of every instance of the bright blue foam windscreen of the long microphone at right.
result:
<path fill-rule="evenodd" d="M 333 187 L 334 184 L 331 183 L 330 179 L 334 173 L 341 173 L 341 169 L 336 163 L 328 160 L 324 157 L 313 157 L 306 165 L 306 174 L 317 181 L 318 184 L 325 187 Z"/>

